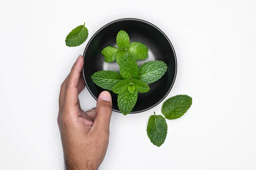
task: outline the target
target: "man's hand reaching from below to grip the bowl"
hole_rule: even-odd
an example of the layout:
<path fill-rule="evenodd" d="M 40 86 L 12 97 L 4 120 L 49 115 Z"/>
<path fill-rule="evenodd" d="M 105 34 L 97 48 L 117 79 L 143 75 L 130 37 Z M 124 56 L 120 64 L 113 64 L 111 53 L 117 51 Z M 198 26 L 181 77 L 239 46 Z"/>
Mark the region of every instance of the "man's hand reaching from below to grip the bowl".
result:
<path fill-rule="evenodd" d="M 80 55 L 62 83 L 59 97 L 58 126 L 67 170 L 97 170 L 108 148 L 111 95 L 103 91 L 96 108 L 87 112 L 80 108 L 83 65 Z"/>

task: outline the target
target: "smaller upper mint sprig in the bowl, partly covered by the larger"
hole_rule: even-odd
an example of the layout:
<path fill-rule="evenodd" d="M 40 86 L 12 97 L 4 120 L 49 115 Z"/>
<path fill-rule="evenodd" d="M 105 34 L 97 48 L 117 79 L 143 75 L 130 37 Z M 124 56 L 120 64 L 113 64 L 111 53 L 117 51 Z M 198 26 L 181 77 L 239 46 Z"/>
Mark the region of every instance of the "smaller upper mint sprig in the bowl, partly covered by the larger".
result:
<path fill-rule="evenodd" d="M 140 42 L 131 42 L 127 32 L 121 30 L 116 36 L 116 47 L 108 46 L 102 50 L 105 62 L 113 62 L 116 60 L 117 64 L 125 56 L 126 53 L 130 53 L 131 57 L 135 60 L 142 60 L 148 58 L 148 48 L 146 45 Z"/>

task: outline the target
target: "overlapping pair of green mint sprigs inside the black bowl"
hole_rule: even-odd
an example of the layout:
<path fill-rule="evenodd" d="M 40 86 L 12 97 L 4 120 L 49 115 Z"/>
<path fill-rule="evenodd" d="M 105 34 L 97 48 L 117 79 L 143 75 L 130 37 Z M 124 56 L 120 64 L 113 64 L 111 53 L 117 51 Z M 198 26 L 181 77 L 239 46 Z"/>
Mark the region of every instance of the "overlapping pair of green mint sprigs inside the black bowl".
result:
<path fill-rule="evenodd" d="M 129 36 L 123 30 L 118 32 L 116 44 L 118 48 L 108 46 L 102 50 L 102 55 L 105 62 L 116 59 L 120 74 L 116 72 L 113 76 L 113 72 L 99 71 L 92 75 L 92 79 L 101 88 L 118 94 L 118 108 L 127 115 L 134 108 L 138 93 L 148 92 L 148 84 L 160 79 L 165 74 L 167 65 L 162 61 L 151 61 L 138 67 L 136 60 L 146 59 L 148 48 L 140 42 L 130 44 Z M 108 76 L 108 73 L 112 75 Z"/>

